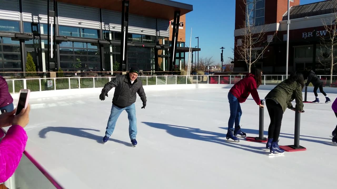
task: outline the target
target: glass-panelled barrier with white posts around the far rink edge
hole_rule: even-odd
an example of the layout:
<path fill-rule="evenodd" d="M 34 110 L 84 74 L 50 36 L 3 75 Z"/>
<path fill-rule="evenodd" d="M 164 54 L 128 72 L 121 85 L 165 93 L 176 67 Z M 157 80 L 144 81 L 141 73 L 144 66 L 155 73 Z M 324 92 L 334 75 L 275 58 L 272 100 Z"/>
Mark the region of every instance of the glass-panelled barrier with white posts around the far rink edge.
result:
<path fill-rule="evenodd" d="M 138 76 L 143 85 L 172 85 L 172 84 L 235 84 L 245 75 L 167 75 L 167 76 Z M 330 83 L 330 75 L 319 75 L 324 87 L 337 87 L 337 76 Z M 102 88 L 114 77 L 64 77 L 64 78 L 32 78 L 8 79 L 9 92 L 18 93 L 20 89 L 31 91 Z M 263 85 L 277 85 L 286 78 L 285 75 L 262 75 Z M 310 83 L 309 86 L 312 86 Z"/>

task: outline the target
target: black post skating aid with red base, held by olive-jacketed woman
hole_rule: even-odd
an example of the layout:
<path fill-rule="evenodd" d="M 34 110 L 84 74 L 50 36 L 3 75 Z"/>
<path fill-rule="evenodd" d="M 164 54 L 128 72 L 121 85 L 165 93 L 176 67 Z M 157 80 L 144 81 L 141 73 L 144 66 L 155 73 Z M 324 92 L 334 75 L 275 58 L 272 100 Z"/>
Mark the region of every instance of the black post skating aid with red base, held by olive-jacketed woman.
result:
<path fill-rule="evenodd" d="M 303 111 L 304 112 L 304 111 Z M 300 146 L 300 122 L 301 122 L 301 113 L 297 110 L 295 111 L 295 134 L 294 134 L 294 145 L 280 146 L 286 152 L 297 152 L 305 151 L 306 148 Z"/>

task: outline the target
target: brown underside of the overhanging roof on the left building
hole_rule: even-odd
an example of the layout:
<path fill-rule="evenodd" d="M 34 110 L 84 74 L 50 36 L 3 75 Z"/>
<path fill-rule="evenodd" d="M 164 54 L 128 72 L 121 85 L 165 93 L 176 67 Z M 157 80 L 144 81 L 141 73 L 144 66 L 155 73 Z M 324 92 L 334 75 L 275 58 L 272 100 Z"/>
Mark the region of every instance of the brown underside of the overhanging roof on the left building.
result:
<path fill-rule="evenodd" d="M 122 12 L 122 0 L 58 0 L 58 2 Z M 184 15 L 193 10 L 190 4 L 170 0 L 129 0 L 129 14 L 173 20 L 174 12 Z"/>

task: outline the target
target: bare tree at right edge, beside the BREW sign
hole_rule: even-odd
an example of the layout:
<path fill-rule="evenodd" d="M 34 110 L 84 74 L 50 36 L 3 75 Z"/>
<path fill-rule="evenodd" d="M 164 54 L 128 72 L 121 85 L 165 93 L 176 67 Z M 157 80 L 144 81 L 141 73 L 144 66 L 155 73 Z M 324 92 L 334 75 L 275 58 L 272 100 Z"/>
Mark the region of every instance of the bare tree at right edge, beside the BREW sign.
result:
<path fill-rule="evenodd" d="M 335 9 L 334 13 L 330 18 L 322 19 L 322 23 L 326 30 L 326 35 L 321 35 L 320 41 L 320 55 L 318 56 L 318 61 L 324 65 L 330 65 L 330 85 L 332 84 L 332 71 L 333 66 L 337 64 L 334 63 L 334 59 L 337 58 L 336 50 L 334 47 L 337 45 L 337 9 Z M 314 34 L 316 35 L 316 33 Z M 315 50 L 315 49 L 314 49 Z M 335 51 L 335 53 L 334 53 Z M 330 60 L 330 61 L 329 61 Z"/>

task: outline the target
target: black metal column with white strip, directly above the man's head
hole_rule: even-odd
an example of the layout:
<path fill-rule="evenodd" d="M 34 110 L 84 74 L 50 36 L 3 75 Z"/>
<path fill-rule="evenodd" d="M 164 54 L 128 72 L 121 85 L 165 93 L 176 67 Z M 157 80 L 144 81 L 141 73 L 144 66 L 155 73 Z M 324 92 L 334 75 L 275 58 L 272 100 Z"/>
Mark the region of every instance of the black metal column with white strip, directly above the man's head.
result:
<path fill-rule="evenodd" d="M 125 65 L 125 71 L 128 71 L 127 62 L 127 36 L 128 36 L 128 21 L 129 21 L 129 1 L 122 1 L 122 28 L 121 28 L 121 59 L 120 59 L 120 74 L 123 71 L 123 65 Z"/>

